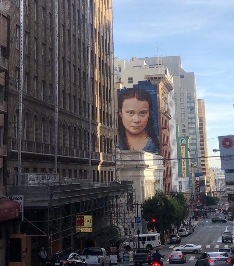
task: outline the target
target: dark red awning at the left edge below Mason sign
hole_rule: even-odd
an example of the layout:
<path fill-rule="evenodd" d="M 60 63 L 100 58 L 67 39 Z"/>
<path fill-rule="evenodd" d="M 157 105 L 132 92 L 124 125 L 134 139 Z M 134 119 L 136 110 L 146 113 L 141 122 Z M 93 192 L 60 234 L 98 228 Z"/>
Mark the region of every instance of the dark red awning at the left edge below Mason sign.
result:
<path fill-rule="evenodd" d="M 19 202 L 13 200 L 0 200 L 0 221 L 19 217 Z"/>

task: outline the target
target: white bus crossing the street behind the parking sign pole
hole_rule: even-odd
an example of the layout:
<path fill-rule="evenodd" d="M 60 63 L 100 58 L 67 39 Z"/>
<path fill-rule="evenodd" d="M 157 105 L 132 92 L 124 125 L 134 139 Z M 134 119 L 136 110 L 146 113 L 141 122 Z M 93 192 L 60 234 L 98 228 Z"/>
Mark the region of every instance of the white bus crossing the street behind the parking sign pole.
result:
<path fill-rule="evenodd" d="M 152 233 L 152 234 L 140 234 L 140 248 L 146 247 L 150 250 L 153 250 L 154 248 L 161 246 L 161 239 L 159 233 Z M 124 248 L 126 250 L 131 250 L 133 248 L 137 248 L 137 236 L 134 236 L 132 239 L 130 239 L 129 242 L 124 243 Z"/>

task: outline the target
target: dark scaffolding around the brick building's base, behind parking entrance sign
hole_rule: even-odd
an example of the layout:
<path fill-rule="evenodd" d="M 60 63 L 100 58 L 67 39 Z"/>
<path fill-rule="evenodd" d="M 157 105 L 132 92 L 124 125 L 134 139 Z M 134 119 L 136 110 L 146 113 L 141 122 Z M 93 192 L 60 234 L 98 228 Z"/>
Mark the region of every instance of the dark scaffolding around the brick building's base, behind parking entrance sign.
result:
<path fill-rule="evenodd" d="M 32 238 L 32 265 L 38 248 L 47 248 L 48 256 L 61 251 L 81 253 L 86 246 L 118 246 L 136 234 L 133 221 L 136 210 L 134 181 L 77 183 L 38 186 L 14 186 L 12 195 L 24 195 L 24 222 L 21 229 Z M 93 216 L 93 232 L 76 231 L 76 215 Z M 127 234 L 126 234 L 127 232 Z"/>

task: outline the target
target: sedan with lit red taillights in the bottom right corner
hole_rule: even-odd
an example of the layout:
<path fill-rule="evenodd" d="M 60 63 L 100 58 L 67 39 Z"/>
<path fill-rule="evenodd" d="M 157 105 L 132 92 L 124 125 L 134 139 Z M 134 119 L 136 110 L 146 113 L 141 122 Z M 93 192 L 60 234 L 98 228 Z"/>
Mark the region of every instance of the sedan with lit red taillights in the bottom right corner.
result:
<path fill-rule="evenodd" d="M 232 260 L 226 253 L 222 252 L 205 252 L 200 258 L 197 257 L 195 266 L 232 266 Z"/>

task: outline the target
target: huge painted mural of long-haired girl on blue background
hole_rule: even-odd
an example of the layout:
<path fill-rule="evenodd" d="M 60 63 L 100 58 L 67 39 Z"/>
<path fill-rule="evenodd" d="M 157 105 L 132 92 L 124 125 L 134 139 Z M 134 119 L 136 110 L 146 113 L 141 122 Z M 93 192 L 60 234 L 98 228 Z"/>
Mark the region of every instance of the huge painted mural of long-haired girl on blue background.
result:
<path fill-rule="evenodd" d="M 133 88 L 118 90 L 120 150 L 159 154 L 157 85 L 139 81 Z"/>

